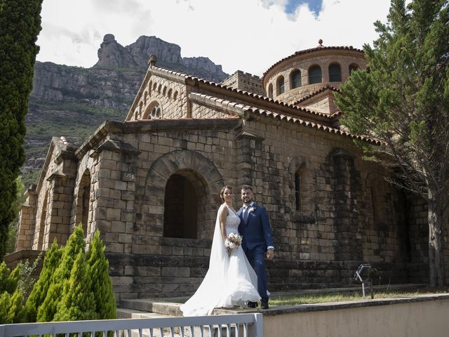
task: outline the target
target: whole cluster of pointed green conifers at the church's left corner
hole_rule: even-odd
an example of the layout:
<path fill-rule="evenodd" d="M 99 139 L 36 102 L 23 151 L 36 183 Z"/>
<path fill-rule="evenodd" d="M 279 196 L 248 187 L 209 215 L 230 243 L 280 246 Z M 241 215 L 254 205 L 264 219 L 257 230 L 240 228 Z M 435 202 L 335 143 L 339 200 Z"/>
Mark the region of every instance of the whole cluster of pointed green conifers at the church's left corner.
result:
<path fill-rule="evenodd" d="M 116 304 L 105 245 L 95 232 L 86 252 L 81 225 L 67 244 L 53 242 L 25 305 L 27 322 L 113 319 Z"/>

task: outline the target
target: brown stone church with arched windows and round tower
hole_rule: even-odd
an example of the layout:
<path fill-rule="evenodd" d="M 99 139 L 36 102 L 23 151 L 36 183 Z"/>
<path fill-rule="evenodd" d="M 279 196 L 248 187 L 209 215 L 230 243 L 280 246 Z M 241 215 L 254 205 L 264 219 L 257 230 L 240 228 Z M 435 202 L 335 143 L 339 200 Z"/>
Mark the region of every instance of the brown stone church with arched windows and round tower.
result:
<path fill-rule="evenodd" d="M 65 244 L 82 223 L 87 242 L 101 232 L 117 300 L 189 295 L 206 274 L 220 189 L 235 187 L 238 208 L 250 184 L 274 232 L 270 291 L 347 286 L 361 263 L 384 284 L 427 282 L 425 203 L 361 159 L 353 140 L 375 140 L 340 125 L 333 94 L 358 69 L 363 51 L 320 44 L 262 78 L 218 84 L 151 55 L 123 122 L 79 147 L 53 138 L 14 254 Z"/>

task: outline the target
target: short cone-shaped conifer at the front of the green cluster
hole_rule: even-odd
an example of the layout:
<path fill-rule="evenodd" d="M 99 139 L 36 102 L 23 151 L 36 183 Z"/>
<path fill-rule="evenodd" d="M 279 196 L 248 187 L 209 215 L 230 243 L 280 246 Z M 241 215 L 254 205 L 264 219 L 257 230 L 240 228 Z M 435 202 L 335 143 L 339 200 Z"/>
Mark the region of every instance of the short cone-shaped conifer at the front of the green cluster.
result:
<path fill-rule="evenodd" d="M 65 282 L 64 292 L 55 321 L 76 321 L 96 319 L 95 298 L 92 292 L 92 275 L 88 275 L 88 265 L 83 251 L 79 251 L 74 261 L 70 279 Z"/>

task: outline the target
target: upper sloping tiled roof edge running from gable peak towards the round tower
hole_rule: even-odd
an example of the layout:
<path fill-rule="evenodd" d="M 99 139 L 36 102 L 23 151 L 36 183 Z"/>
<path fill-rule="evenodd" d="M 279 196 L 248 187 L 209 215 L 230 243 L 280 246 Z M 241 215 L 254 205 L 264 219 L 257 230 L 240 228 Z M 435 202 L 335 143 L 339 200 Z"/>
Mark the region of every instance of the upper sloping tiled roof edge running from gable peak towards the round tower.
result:
<path fill-rule="evenodd" d="M 163 67 L 152 67 L 152 69 L 156 69 L 156 70 L 159 70 L 161 72 L 168 72 L 169 74 L 174 74 L 176 76 L 185 77 L 186 80 L 189 79 L 189 80 L 196 81 L 196 82 L 199 82 L 199 83 L 203 83 L 203 84 L 207 84 L 207 85 L 210 85 L 210 86 L 214 86 L 216 88 L 223 88 L 223 89 L 225 89 L 227 91 L 231 91 L 233 93 L 239 93 L 241 95 L 246 95 L 246 96 L 249 96 L 249 97 L 252 97 L 252 98 L 257 98 L 258 100 L 263 100 L 265 102 L 270 102 L 270 103 L 274 103 L 276 105 L 280 105 L 280 106 L 283 106 L 283 107 L 288 107 L 288 108 L 293 109 L 295 111 L 300 111 L 300 112 L 304 112 L 304 113 L 307 113 L 307 114 L 312 114 L 312 115 L 315 115 L 315 116 L 324 117 L 326 119 L 329 118 L 328 114 L 323 114 L 321 112 L 316 112 L 316 111 L 313 111 L 313 110 L 305 109 L 304 107 L 297 107 L 297 106 L 295 106 L 293 104 L 284 103 L 284 102 L 282 102 L 280 100 L 274 100 L 273 98 L 268 98 L 267 96 L 264 96 L 264 95 L 257 95 L 256 93 L 250 93 L 248 91 L 244 91 L 244 90 L 241 90 L 241 89 L 232 88 L 230 86 L 224 86 L 222 84 L 217 84 L 217 83 L 215 83 L 213 81 L 208 81 L 206 79 L 201 79 L 200 77 L 194 77 L 194 76 L 189 75 L 189 74 L 183 74 L 182 72 L 175 72 L 173 70 L 169 70 L 169 69 L 166 69 L 166 68 L 163 68 Z M 294 113 L 294 112 L 292 112 L 292 113 Z"/>

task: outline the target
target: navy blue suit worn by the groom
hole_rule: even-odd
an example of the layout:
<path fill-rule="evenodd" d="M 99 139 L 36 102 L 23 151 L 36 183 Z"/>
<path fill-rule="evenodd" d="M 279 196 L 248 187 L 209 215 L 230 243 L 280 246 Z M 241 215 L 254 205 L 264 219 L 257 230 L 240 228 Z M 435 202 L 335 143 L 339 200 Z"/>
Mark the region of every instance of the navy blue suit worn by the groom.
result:
<path fill-rule="evenodd" d="M 274 244 L 267 210 L 253 201 L 248 206 L 246 223 L 243 220 L 243 208 L 239 209 L 237 215 L 240 218 L 239 233 L 243 236 L 242 249 L 257 274 L 257 291 L 262 300 L 268 300 L 264 259 L 267 247 Z"/>

